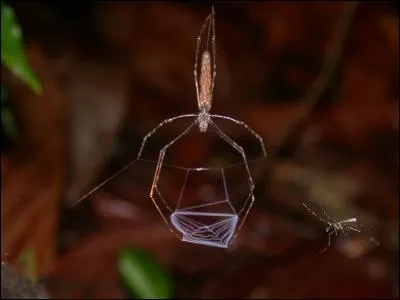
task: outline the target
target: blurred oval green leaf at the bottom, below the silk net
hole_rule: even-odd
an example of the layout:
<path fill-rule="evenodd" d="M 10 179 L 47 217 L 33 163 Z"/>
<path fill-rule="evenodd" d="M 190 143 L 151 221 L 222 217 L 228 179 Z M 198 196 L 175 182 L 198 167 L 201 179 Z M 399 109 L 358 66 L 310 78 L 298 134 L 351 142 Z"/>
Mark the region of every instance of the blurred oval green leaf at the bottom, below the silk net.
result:
<path fill-rule="evenodd" d="M 123 249 L 119 271 L 130 292 L 138 299 L 168 299 L 172 282 L 160 265 L 142 250 Z"/>

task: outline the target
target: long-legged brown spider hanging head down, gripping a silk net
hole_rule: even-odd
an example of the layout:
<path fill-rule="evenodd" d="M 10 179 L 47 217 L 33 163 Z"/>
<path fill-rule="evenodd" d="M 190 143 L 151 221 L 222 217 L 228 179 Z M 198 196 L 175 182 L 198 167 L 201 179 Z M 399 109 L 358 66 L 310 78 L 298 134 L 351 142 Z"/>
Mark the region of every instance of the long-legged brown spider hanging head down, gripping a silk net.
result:
<path fill-rule="evenodd" d="M 198 61 L 199 61 L 199 52 L 200 52 L 200 46 L 201 46 L 201 39 L 203 36 L 204 31 L 206 30 L 206 28 L 208 28 L 208 34 L 207 34 L 207 43 L 206 43 L 206 49 L 202 52 L 201 54 L 201 60 L 200 60 L 200 78 L 198 77 Z M 211 34 L 211 41 L 210 41 L 210 34 Z M 209 44 L 211 44 L 211 47 L 209 47 Z M 253 195 L 253 190 L 254 190 L 254 183 L 253 183 L 253 179 L 252 176 L 250 174 L 250 170 L 249 170 L 249 166 L 247 164 L 247 157 L 246 157 L 246 153 L 243 149 L 242 146 L 240 146 L 239 144 L 237 144 L 233 139 L 231 139 L 227 134 L 225 134 L 214 122 L 214 120 L 216 119 L 224 119 L 224 120 L 228 120 L 231 122 L 234 122 L 237 125 L 240 125 L 242 127 L 244 127 L 248 132 L 250 132 L 250 134 L 252 134 L 260 143 L 261 145 L 261 150 L 262 150 L 262 157 L 266 157 L 267 153 L 265 150 L 265 146 L 264 146 L 264 142 L 263 139 L 261 138 L 260 135 L 258 135 L 254 130 L 252 130 L 247 124 L 245 124 L 242 121 L 239 120 L 235 120 L 231 117 L 228 116 L 223 116 L 223 115 L 214 115 L 210 113 L 211 110 L 211 106 L 212 106 L 212 100 L 213 100 L 213 91 L 214 91 L 214 86 L 215 86 L 215 77 L 216 77 L 216 62 L 215 62 L 215 12 L 214 12 L 214 7 L 211 8 L 211 13 L 207 16 L 207 18 L 204 21 L 203 26 L 201 27 L 200 33 L 197 36 L 197 44 L 196 44 L 196 55 L 195 55 L 195 63 L 194 63 L 194 80 L 195 80 L 195 88 L 196 88 L 196 97 L 197 97 L 197 106 L 198 106 L 198 113 L 197 114 L 185 114 L 185 115 L 179 115 L 170 119 L 166 119 L 164 121 L 162 121 L 158 126 L 156 126 L 153 130 L 151 130 L 144 138 L 137 156 L 137 159 L 141 159 L 141 155 L 143 152 L 143 149 L 146 145 L 146 142 L 148 141 L 148 139 L 162 126 L 172 123 L 178 119 L 185 119 L 185 118 L 194 118 L 194 121 L 191 123 L 191 125 L 189 125 L 185 130 L 183 130 L 176 138 L 174 138 L 172 141 L 170 141 L 169 143 L 167 143 L 166 145 L 164 145 L 162 147 L 162 149 L 159 152 L 159 156 L 158 156 L 158 161 L 157 161 L 157 166 L 155 169 L 155 173 L 154 173 L 154 178 L 153 178 L 153 183 L 151 186 L 151 190 L 150 190 L 150 198 L 152 199 L 154 205 L 156 206 L 158 212 L 160 213 L 161 217 L 163 218 L 164 222 L 168 225 L 168 221 L 166 219 L 166 217 L 164 216 L 164 214 L 162 213 L 162 210 L 160 208 L 160 206 L 158 205 L 157 201 L 156 201 L 156 197 L 155 194 L 158 193 L 158 195 L 160 196 L 161 200 L 162 200 L 162 196 L 160 195 L 160 192 L 158 190 L 158 180 L 159 180 L 159 176 L 160 176 L 160 172 L 163 166 L 163 161 L 164 161 L 164 157 L 165 154 L 168 150 L 169 147 L 171 147 L 173 144 L 175 144 L 180 138 L 182 138 L 184 135 L 186 135 L 190 130 L 192 130 L 193 127 L 198 126 L 198 129 L 201 133 L 207 133 L 207 131 L 209 130 L 209 127 L 212 127 L 213 129 L 215 129 L 216 133 L 218 134 L 218 136 L 220 138 L 222 138 L 224 141 L 226 141 L 234 150 L 236 150 L 240 155 L 241 158 L 243 160 L 243 163 L 245 165 L 246 168 L 246 172 L 247 172 L 247 180 L 248 180 L 248 184 L 249 184 L 249 189 L 250 189 L 250 194 L 248 196 L 248 198 L 246 199 L 245 203 L 243 204 L 241 210 L 238 212 L 238 214 L 236 215 L 236 212 L 233 211 L 233 214 L 231 215 L 231 222 L 233 224 L 233 226 L 230 226 L 230 232 L 229 233 L 224 233 L 225 237 L 229 237 L 227 239 L 225 239 L 225 242 L 222 244 L 218 244 L 218 243 L 214 243 L 214 244 L 210 244 L 209 241 L 201 241 L 201 240 L 196 240 L 197 243 L 202 243 L 202 244 L 206 244 L 206 245 L 213 245 L 213 246 L 218 246 L 218 247 L 227 247 L 228 246 L 228 242 L 231 239 L 232 235 L 233 235 L 233 231 L 236 231 L 236 220 L 237 218 L 244 214 L 244 217 L 242 219 L 242 221 L 240 222 L 239 226 L 238 226 L 238 230 L 236 231 L 236 233 L 240 230 L 241 226 L 243 225 L 247 214 L 249 212 L 249 210 L 251 209 L 253 203 L 254 203 L 254 195 Z M 162 200 L 163 201 L 163 200 Z M 229 199 L 227 200 L 229 202 Z M 164 202 L 164 207 L 168 206 L 166 205 L 166 203 Z M 184 237 L 180 238 L 184 241 L 191 241 L 193 242 L 193 236 L 195 235 L 193 232 L 185 232 L 184 229 L 182 229 L 184 226 L 179 225 L 177 222 L 177 220 L 181 220 L 182 218 L 186 218 L 186 216 L 183 215 L 183 212 L 180 212 L 179 216 L 178 216 L 178 211 L 175 210 L 171 210 L 169 209 L 169 211 L 171 212 L 171 219 L 170 219 L 170 223 L 172 223 L 172 225 L 175 227 L 175 229 L 177 229 L 178 231 L 180 231 Z M 187 212 L 186 212 L 187 213 Z M 198 213 L 197 213 L 198 214 Z M 187 221 L 187 219 L 185 219 Z M 182 221 L 183 222 L 183 221 Z M 194 221 L 192 221 L 194 222 Z M 225 222 L 225 221 L 224 221 Z M 228 222 L 228 221 L 226 221 Z M 191 225 L 195 224 L 191 223 Z M 196 225 L 196 224 L 195 224 Z M 212 224 L 210 226 L 204 225 L 204 224 L 199 224 L 200 227 L 200 231 L 202 230 L 207 230 L 208 234 L 210 234 L 210 232 L 213 234 L 214 231 L 212 228 L 214 228 L 213 226 L 217 226 L 216 224 Z M 234 228 L 233 228 L 234 227 Z M 186 227 L 185 227 L 186 228 Z M 232 229 L 233 228 L 233 229 Z M 196 233 L 199 232 L 199 229 L 196 229 Z M 170 231 L 174 233 L 173 230 Z M 236 235 L 235 235 L 236 236 Z M 235 238 L 235 236 L 233 238 Z"/>

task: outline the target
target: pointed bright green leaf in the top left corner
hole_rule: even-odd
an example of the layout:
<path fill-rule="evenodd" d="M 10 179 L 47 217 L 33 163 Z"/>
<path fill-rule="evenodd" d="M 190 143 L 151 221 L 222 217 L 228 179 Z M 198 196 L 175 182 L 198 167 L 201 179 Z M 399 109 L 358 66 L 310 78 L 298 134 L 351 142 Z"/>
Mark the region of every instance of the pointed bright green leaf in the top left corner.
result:
<path fill-rule="evenodd" d="M 1 61 L 36 94 L 42 94 L 42 86 L 25 56 L 22 30 L 15 18 L 14 10 L 3 2 L 1 3 Z"/>

